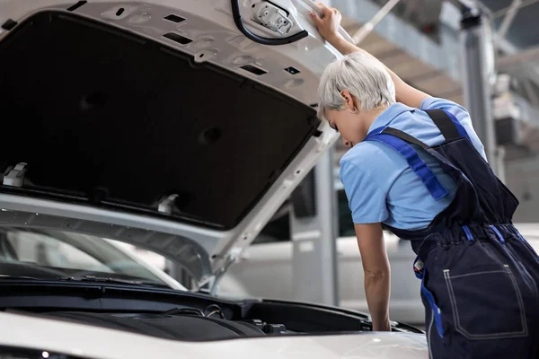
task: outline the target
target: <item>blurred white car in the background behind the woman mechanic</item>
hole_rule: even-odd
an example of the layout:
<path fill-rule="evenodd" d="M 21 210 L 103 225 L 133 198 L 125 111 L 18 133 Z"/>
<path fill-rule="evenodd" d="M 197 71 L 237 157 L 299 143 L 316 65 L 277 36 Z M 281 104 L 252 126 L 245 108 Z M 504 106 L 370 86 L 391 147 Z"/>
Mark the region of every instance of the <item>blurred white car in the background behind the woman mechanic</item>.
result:
<path fill-rule="evenodd" d="M 364 272 L 358 242 L 351 221 L 348 199 L 337 184 L 339 201 L 339 237 L 337 238 L 340 307 L 368 311 Z M 539 252 L 539 223 L 517 223 L 526 241 Z M 390 319 L 424 326 L 425 309 L 420 298 L 420 280 L 413 274 L 416 255 L 409 241 L 384 232 L 385 248 L 391 266 Z M 252 246 L 221 279 L 218 295 L 226 297 L 263 297 L 293 300 L 293 243 L 288 215 L 271 221 Z"/>

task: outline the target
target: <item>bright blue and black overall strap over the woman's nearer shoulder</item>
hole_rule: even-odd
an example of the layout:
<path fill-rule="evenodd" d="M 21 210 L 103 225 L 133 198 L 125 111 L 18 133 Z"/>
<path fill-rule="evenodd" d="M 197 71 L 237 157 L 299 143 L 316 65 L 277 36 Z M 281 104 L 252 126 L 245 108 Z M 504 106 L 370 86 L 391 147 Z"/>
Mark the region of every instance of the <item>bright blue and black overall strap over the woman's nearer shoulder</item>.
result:
<path fill-rule="evenodd" d="M 365 140 L 381 142 L 392 147 L 398 153 L 401 153 L 411 169 L 420 177 L 420 180 L 425 187 L 429 189 L 430 195 L 435 200 L 446 197 L 448 194 L 447 189 L 442 186 L 434 173 L 429 169 L 429 166 L 421 160 L 416 150 L 407 142 L 418 144 L 425 149 L 429 148 L 427 144 L 392 127 L 376 129 L 372 134 L 369 134 Z"/>

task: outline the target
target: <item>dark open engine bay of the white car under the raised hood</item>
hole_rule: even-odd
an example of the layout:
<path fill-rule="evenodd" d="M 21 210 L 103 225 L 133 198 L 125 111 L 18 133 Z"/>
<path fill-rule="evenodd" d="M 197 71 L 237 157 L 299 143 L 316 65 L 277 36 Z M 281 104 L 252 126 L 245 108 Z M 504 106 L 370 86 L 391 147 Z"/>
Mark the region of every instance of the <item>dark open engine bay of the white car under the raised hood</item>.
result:
<path fill-rule="evenodd" d="M 13 279 L 0 282 L 0 310 L 171 340 L 324 335 L 372 331 L 364 313 L 304 302 L 232 301 L 133 285 Z M 393 322 L 396 332 L 423 332 Z"/>

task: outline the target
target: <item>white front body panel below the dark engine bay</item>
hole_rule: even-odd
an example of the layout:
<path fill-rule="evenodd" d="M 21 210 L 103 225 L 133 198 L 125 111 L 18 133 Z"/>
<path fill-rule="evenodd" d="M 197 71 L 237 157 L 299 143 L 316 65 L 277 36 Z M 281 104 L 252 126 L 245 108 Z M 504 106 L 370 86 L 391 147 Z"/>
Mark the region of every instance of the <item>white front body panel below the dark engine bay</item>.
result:
<path fill-rule="evenodd" d="M 425 336 L 419 334 L 360 333 L 182 342 L 13 313 L 0 313 L 0 321 L 10 323 L 9 327 L 0 328 L 0 346 L 26 347 L 91 359 L 147 359 L 156 353 L 163 359 L 177 358 L 178 355 L 200 359 L 429 357 Z"/>

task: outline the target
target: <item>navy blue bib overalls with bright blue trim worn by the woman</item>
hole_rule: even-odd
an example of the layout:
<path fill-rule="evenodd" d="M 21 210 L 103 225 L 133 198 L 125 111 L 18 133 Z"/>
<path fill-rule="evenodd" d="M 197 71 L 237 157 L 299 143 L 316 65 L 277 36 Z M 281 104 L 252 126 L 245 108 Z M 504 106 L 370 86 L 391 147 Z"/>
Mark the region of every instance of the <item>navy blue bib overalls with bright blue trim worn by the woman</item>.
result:
<path fill-rule="evenodd" d="M 420 231 L 384 226 L 411 241 L 418 258 L 429 355 L 434 359 L 539 358 L 539 257 L 512 224 L 517 198 L 499 181 L 464 127 L 428 110 L 446 141 L 429 147 L 391 127 L 366 141 L 387 144 L 408 161 L 430 194 L 447 191 L 417 151 L 430 153 L 457 185 L 455 198 Z"/>

